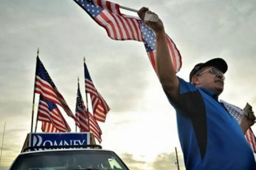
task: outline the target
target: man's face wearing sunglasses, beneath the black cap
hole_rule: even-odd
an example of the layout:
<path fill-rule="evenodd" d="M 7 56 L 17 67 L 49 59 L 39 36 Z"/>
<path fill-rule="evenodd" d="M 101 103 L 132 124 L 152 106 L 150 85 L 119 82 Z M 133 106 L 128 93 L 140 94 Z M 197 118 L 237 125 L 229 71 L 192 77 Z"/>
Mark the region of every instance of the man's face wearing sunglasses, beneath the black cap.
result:
<path fill-rule="evenodd" d="M 224 74 L 214 67 L 204 67 L 199 74 L 193 77 L 193 83 L 220 95 L 224 89 Z"/>

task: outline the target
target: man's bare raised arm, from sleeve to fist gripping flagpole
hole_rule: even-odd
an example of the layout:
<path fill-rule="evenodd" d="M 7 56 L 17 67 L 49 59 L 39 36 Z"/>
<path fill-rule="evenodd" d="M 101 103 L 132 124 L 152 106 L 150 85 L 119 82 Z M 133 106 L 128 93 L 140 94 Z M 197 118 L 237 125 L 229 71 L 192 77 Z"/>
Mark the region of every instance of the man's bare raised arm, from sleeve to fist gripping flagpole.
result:
<path fill-rule="evenodd" d="M 155 13 L 149 11 L 146 7 L 142 7 L 138 11 L 141 20 L 150 27 L 156 35 L 156 63 L 160 83 L 168 95 L 174 100 L 177 100 L 179 94 L 179 80 L 177 79 L 176 72 L 173 68 L 163 23 L 160 19 L 157 22 L 145 22 L 144 17 L 146 13 Z"/>

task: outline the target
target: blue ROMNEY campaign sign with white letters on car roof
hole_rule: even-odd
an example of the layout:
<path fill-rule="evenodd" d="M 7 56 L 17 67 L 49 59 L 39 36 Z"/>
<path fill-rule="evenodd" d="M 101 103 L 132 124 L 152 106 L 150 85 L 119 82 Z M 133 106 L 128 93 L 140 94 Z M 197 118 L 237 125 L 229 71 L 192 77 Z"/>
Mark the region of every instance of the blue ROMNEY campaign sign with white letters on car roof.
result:
<path fill-rule="evenodd" d="M 30 133 L 29 146 L 63 145 L 90 145 L 90 133 Z"/>

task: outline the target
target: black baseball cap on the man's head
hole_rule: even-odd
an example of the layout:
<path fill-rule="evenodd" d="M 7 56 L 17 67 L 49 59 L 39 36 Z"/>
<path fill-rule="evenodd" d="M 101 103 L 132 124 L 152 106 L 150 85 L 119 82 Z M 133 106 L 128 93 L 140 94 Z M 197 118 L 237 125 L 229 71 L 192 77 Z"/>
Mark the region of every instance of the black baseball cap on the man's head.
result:
<path fill-rule="evenodd" d="M 191 70 L 189 74 L 189 82 L 191 83 L 193 76 L 196 75 L 196 73 L 199 70 L 201 70 L 203 67 L 206 67 L 206 66 L 215 67 L 220 71 L 222 71 L 224 74 L 228 70 L 228 65 L 225 60 L 223 60 L 222 58 L 213 58 L 212 60 L 209 60 L 205 63 L 198 63 L 197 65 L 195 65 L 195 67 Z"/>

